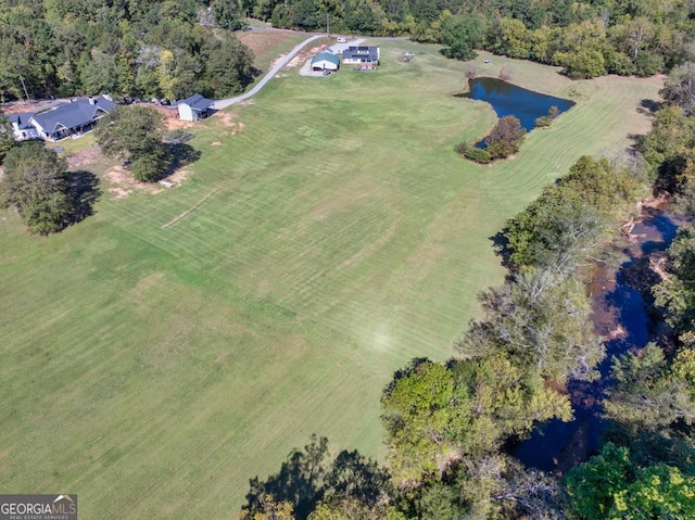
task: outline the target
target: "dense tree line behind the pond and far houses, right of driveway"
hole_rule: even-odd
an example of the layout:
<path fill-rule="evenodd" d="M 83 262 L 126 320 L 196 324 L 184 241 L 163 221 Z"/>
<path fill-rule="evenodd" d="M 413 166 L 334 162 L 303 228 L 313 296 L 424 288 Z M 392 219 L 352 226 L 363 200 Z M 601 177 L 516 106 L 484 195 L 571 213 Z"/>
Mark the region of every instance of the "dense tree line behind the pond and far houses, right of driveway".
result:
<path fill-rule="evenodd" d="M 573 78 L 648 76 L 693 58 L 692 5 L 683 0 L 256 0 L 276 27 L 410 35 L 470 59 L 475 48 L 560 65 Z"/>

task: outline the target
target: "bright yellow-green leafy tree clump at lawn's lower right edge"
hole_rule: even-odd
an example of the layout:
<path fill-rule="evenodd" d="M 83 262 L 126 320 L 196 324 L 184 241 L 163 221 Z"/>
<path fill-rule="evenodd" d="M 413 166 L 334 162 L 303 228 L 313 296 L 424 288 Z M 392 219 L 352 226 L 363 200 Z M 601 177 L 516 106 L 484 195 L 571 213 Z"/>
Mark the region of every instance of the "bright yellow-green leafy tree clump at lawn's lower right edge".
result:
<path fill-rule="evenodd" d="M 465 458 L 493 453 L 508 435 L 571 416 L 566 396 L 501 354 L 444 366 L 414 359 L 381 397 L 388 469 L 407 492 L 437 481 Z"/>

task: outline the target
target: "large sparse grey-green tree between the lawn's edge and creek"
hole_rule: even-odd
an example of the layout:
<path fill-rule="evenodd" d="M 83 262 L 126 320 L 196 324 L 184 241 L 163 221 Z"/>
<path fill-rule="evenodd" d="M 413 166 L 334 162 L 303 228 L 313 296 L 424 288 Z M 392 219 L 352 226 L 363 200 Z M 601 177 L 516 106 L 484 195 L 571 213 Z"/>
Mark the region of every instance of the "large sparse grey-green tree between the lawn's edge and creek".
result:
<path fill-rule="evenodd" d="M 577 278 L 529 269 L 480 300 L 485 317 L 472 322 L 457 345 L 464 355 L 502 352 L 526 373 L 558 381 L 597 377 L 604 345 L 592 330 L 591 302 Z"/>

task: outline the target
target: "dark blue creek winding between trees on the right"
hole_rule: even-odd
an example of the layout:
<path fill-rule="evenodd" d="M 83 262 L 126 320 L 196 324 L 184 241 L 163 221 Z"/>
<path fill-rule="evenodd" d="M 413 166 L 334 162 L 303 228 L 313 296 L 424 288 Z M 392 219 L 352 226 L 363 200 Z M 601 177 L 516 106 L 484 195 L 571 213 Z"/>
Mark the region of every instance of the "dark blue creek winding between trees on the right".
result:
<path fill-rule="evenodd" d="M 606 422 L 601 418 L 601 399 L 609 383 L 611 356 L 642 348 L 652 338 L 642 294 L 633 289 L 639 280 L 634 267 L 646 255 L 665 251 L 675 237 L 679 223 L 667 212 L 653 212 L 634 225 L 622 252 L 628 261 L 615 274 L 597 267 L 589 288 L 594 306 L 594 327 L 606 339 L 606 359 L 598 366 L 601 379 L 592 383 L 570 381 L 567 391 L 574 420 L 551 421 L 530 439 L 509 446 L 509 452 L 530 467 L 565 473 L 586 460 L 601 445 Z M 630 283 L 628 283 L 630 280 Z"/>

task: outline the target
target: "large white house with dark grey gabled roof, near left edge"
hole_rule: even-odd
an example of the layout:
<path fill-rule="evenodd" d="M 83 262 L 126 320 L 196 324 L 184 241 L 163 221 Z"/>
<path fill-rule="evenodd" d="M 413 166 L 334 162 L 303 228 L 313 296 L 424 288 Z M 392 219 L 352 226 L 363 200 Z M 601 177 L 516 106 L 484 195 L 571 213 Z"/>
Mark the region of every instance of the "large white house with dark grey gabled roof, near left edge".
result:
<path fill-rule="evenodd" d="M 60 141 L 92 130 L 94 123 L 109 114 L 114 106 L 115 103 L 103 96 L 77 98 L 40 114 L 31 114 L 28 122 L 36 128 L 36 137 L 39 139 Z"/>

